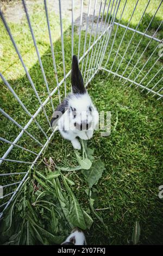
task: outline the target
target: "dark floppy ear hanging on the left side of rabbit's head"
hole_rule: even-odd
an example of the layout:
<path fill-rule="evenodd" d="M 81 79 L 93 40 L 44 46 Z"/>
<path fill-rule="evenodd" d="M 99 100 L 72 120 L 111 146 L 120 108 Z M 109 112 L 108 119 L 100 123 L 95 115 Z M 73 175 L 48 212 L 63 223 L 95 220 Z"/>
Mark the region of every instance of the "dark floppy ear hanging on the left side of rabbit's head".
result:
<path fill-rule="evenodd" d="M 59 118 L 62 116 L 62 114 L 65 113 L 66 109 L 68 109 L 68 100 L 67 98 L 64 99 L 58 107 L 55 109 L 53 115 L 52 115 L 52 120 L 51 120 L 51 126 L 55 126 L 57 124 L 57 121 Z"/>

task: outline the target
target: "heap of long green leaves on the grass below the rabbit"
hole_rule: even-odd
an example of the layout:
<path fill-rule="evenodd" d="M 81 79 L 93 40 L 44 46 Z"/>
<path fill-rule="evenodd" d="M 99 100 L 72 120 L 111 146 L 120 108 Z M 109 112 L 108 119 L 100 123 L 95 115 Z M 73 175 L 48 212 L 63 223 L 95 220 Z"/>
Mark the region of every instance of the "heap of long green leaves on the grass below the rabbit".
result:
<path fill-rule="evenodd" d="M 63 172 L 81 170 L 88 186 L 88 200 L 93 214 L 91 188 L 101 178 L 104 164 L 95 160 L 93 150 L 82 141 L 83 156 L 75 151 L 77 167 L 56 166 L 52 158 L 46 168 L 29 171 L 29 176 L 0 225 L 1 243 L 8 245 L 60 244 L 73 227 L 90 229 L 92 217 L 79 204 L 72 186 L 75 183 Z M 104 223 L 103 223 L 104 224 Z"/>

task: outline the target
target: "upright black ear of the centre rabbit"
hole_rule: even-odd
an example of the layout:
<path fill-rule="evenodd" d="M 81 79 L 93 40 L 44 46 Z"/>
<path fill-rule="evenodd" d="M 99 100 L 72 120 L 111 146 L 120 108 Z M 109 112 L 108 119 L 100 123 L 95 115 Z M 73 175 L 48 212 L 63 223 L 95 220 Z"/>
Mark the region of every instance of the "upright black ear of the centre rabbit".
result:
<path fill-rule="evenodd" d="M 73 93 L 86 93 L 83 77 L 79 69 L 78 58 L 76 55 L 72 57 L 71 84 Z"/>

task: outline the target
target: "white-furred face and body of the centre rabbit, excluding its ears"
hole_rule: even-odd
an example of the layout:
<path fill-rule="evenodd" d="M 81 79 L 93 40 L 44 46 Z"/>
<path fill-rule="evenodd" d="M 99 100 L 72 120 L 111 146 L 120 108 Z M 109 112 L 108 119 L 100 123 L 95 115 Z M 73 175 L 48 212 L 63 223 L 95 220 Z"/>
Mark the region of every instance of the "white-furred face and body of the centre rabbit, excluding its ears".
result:
<path fill-rule="evenodd" d="M 68 108 L 70 107 L 76 109 L 76 111 L 66 111 L 65 114 L 61 116 L 58 121 L 58 130 L 62 137 L 71 141 L 74 149 L 81 149 L 81 144 L 76 137 L 84 140 L 92 138 L 93 131 L 98 124 L 99 115 L 87 93 L 71 94 L 68 100 Z M 87 109 L 88 107 L 91 107 L 91 111 Z M 75 118 L 73 112 L 78 113 Z M 86 119 L 88 123 L 91 123 L 89 129 L 82 131 L 77 130 L 74 123 L 84 123 Z"/>

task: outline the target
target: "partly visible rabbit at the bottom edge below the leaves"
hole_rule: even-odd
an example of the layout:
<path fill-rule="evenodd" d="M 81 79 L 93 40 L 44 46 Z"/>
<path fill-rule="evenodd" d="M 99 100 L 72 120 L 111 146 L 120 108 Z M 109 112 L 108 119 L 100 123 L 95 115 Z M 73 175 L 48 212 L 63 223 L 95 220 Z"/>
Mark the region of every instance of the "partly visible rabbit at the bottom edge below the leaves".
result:
<path fill-rule="evenodd" d="M 74 228 L 71 234 L 61 245 L 86 245 L 85 235 L 82 230 Z"/>

